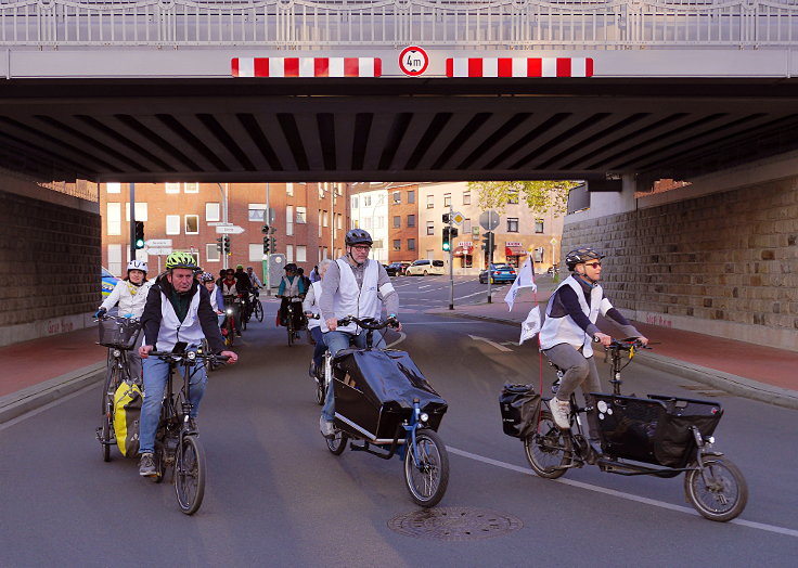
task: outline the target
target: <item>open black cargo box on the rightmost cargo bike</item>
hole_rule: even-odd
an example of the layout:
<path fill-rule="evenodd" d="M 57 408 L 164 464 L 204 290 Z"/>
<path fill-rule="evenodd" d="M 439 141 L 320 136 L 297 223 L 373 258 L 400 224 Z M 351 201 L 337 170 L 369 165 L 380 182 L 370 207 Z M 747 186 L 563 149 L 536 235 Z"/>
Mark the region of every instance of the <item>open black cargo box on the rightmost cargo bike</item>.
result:
<path fill-rule="evenodd" d="M 647 399 L 591 392 L 604 450 L 614 457 L 685 467 L 695 457 L 690 427 L 707 438 L 723 409 L 716 401 L 648 395 Z"/>

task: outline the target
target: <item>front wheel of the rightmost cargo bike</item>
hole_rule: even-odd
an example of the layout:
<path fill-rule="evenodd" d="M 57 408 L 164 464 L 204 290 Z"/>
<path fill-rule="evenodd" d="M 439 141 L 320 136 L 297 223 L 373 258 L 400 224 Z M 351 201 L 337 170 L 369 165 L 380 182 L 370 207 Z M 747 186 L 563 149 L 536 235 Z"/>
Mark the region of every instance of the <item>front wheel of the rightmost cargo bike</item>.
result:
<path fill-rule="evenodd" d="M 705 518 L 720 522 L 743 513 L 748 502 L 748 486 L 743 473 L 723 457 L 706 457 L 702 469 L 687 472 L 684 493 Z"/>

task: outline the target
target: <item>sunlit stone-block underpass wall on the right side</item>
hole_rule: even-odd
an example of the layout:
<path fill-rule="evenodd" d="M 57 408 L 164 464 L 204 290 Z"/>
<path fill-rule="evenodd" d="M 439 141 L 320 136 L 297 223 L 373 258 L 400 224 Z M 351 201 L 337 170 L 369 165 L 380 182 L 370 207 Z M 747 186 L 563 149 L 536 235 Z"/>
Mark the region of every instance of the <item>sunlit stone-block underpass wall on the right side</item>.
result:
<path fill-rule="evenodd" d="M 798 178 L 566 224 L 640 321 L 798 350 Z"/>

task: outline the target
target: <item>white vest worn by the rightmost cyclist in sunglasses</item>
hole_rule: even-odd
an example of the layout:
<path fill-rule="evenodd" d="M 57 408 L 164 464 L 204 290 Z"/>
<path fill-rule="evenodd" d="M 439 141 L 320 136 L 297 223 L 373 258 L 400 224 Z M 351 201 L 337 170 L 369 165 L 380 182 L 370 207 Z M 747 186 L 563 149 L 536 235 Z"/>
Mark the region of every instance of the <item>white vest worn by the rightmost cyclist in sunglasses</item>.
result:
<path fill-rule="evenodd" d="M 591 323 L 595 323 L 598 319 L 600 312 L 604 315 L 613 308 L 609 300 L 602 298 L 604 293 L 601 286 L 594 286 L 590 291 L 590 306 L 588 306 L 588 302 L 584 299 L 582 285 L 577 282 L 572 274 L 557 286 L 557 291 L 563 286 L 570 286 L 574 292 L 576 292 L 577 298 L 579 299 L 579 306 L 582 308 L 582 312 L 588 317 Z M 543 322 L 543 327 L 540 330 L 540 348 L 551 349 L 555 345 L 568 344 L 572 345 L 576 349 L 582 349 L 582 354 L 584 357 L 591 357 L 593 354 L 593 338 L 590 334 L 584 333 L 584 330 L 579 327 L 570 315 L 565 315 L 563 318 L 551 317 L 555 294 L 552 294 L 552 297 L 549 299 L 549 305 L 545 308 L 545 321 Z"/>

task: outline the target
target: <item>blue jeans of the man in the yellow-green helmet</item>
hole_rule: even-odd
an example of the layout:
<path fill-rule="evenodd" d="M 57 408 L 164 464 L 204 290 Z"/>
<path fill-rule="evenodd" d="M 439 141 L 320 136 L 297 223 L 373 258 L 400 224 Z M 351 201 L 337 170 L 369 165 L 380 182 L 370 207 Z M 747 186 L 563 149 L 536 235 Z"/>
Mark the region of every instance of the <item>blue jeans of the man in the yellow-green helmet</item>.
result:
<path fill-rule="evenodd" d="M 177 371 L 180 373 L 182 370 L 178 367 Z M 200 401 L 203 400 L 205 386 L 208 384 L 208 375 L 202 362 L 197 363 L 195 371 L 189 383 L 192 418 L 196 418 L 200 412 Z M 160 403 L 164 400 L 168 376 L 169 363 L 156 357 L 144 359 L 144 402 L 141 406 L 141 421 L 139 422 L 139 453 L 155 451 L 155 431 L 160 421 Z M 176 374 L 173 380 L 175 389 L 182 386 L 182 376 Z"/>

